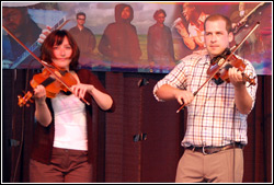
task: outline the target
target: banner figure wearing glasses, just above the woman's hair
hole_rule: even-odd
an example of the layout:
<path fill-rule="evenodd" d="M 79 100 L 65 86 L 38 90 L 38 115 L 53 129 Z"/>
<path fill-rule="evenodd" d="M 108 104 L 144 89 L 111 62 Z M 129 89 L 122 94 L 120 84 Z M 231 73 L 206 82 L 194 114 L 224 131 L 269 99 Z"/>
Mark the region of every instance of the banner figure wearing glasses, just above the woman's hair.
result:
<path fill-rule="evenodd" d="M 79 63 L 81 66 L 90 66 L 92 54 L 96 46 L 96 39 L 92 31 L 84 26 L 85 13 L 79 12 L 76 15 L 77 25 L 69 30 L 69 33 L 75 37 L 80 49 Z"/>

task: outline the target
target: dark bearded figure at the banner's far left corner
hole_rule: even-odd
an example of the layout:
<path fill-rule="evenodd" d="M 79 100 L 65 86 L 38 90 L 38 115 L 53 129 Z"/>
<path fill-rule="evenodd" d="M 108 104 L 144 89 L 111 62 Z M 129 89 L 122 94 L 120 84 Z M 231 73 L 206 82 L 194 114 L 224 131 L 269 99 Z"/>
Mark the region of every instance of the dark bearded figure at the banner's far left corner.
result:
<path fill-rule="evenodd" d="M 2 4 L 2 24 L 28 48 L 38 39 L 42 33 L 42 30 L 30 18 L 27 12 L 27 5 L 33 4 L 20 2 L 3 2 Z M 3 34 L 2 42 L 2 65 L 3 68 L 10 68 L 14 65 L 14 61 L 20 61 L 23 58 L 22 54 L 25 53 L 25 49 L 9 34 Z M 36 55 L 38 55 L 38 50 Z M 33 58 L 23 59 L 20 63 L 24 62 L 24 67 L 27 68 L 30 60 L 33 60 Z"/>

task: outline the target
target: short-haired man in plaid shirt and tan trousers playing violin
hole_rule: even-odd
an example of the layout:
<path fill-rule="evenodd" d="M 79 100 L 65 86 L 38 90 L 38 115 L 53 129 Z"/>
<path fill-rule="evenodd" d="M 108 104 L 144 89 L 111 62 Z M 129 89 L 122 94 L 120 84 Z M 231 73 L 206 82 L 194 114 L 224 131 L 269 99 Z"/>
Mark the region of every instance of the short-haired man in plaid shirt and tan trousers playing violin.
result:
<path fill-rule="evenodd" d="M 208 16 L 204 30 L 208 54 L 186 56 L 153 89 L 158 101 L 176 100 L 187 107 L 182 141 L 185 150 L 178 163 L 175 182 L 242 182 L 247 117 L 254 106 L 258 88 L 256 83 L 246 82 L 242 72 L 255 77 L 255 70 L 244 60 L 244 71 L 236 67 L 226 69 L 230 82 L 209 80 L 194 93 L 209 78 L 212 59 L 221 55 L 233 39 L 231 21 L 224 15 Z"/>

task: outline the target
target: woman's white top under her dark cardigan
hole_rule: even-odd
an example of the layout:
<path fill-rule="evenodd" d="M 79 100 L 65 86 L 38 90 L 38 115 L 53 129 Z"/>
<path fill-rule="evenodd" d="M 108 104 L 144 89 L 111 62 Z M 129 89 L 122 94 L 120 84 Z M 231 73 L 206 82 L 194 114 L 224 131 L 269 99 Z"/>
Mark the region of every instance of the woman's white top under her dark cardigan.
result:
<path fill-rule="evenodd" d="M 58 93 L 52 99 L 55 114 L 54 147 L 88 150 L 84 103 L 73 94 Z"/>

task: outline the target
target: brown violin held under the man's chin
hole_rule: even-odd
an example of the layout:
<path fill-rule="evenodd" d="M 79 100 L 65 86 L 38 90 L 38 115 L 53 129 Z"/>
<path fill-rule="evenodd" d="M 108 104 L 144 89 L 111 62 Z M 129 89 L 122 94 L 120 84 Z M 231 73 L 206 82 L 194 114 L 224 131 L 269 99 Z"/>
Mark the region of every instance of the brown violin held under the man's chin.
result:
<path fill-rule="evenodd" d="M 216 82 L 216 84 L 221 84 L 224 81 L 229 83 L 230 80 L 229 80 L 229 77 L 228 77 L 228 70 L 229 70 L 229 68 L 235 67 L 239 71 L 241 71 L 241 74 L 242 74 L 242 78 L 243 78 L 244 82 L 249 82 L 250 85 L 255 85 L 254 78 L 253 79 L 251 78 L 252 73 L 247 76 L 243 72 L 247 65 L 243 62 L 243 60 L 237 58 L 235 55 L 231 55 L 230 58 L 226 61 L 226 63 L 224 63 L 225 67 L 219 69 L 219 63 L 222 63 L 221 60 L 225 60 L 230 54 L 231 54 L 230 49 L 226 48 L 225 51 L 221 55 L 219 55 L 217 57 L 214 57 L 210 60 L 212 65 L 207 70 L 207 74 L 212 76 L 213 73 L 215 73 L 214 77 L 213 77 L 213 80 Z"/>

